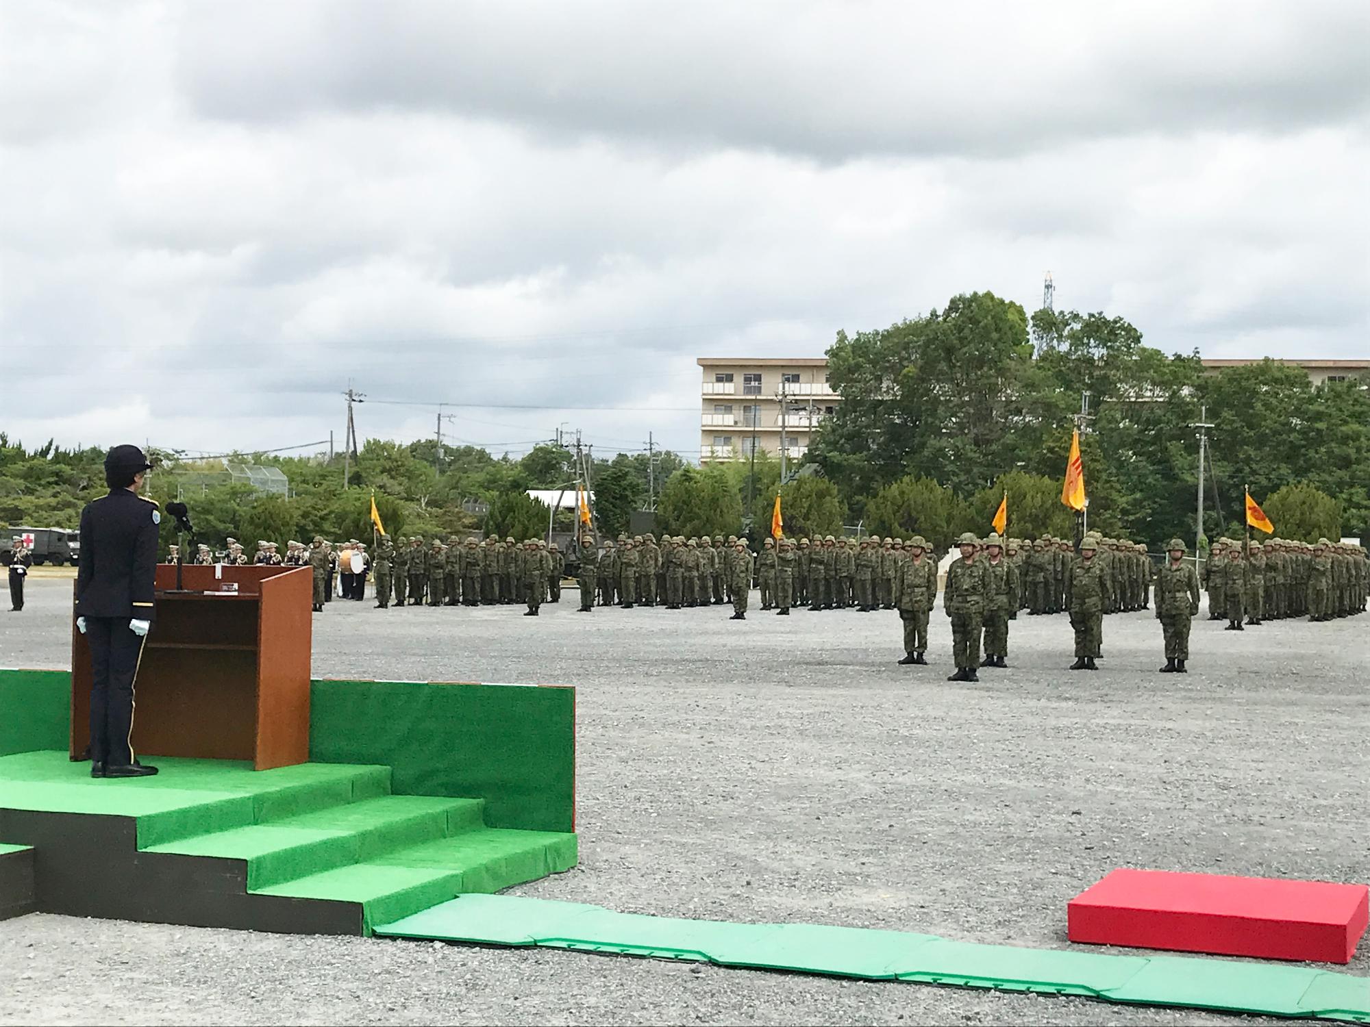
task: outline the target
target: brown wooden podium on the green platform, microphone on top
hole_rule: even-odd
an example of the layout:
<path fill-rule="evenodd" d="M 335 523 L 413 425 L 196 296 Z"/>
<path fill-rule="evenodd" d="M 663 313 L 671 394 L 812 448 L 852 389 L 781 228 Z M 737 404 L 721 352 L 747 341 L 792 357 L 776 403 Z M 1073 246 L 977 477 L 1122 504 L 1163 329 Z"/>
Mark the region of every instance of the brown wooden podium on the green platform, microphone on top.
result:
<path fill-rule="evenodd" d="M 140 756 L 310 759 L 314 572 L 308 567 L 159 564 L 156 619 L 134 679 Z M 90 649 L 71 627 L 71 759 L 90 744 Z"/>

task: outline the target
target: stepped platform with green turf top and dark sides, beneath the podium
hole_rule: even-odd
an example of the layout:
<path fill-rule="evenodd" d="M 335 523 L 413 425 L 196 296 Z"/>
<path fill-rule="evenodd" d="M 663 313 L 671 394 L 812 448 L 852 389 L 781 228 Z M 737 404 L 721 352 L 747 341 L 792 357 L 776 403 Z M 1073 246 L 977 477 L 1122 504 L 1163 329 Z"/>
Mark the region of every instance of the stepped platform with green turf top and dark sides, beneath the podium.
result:
<path fill-rule="evenodd" d="M 575 865 L 574 834 L 488 827 L 481 798 L 392 794 L 389 767 L 158 765 L 96 781 L 64 752 L 0 757 L 0 844 L 33 846 L 38 909 L 369 934 Z"/>

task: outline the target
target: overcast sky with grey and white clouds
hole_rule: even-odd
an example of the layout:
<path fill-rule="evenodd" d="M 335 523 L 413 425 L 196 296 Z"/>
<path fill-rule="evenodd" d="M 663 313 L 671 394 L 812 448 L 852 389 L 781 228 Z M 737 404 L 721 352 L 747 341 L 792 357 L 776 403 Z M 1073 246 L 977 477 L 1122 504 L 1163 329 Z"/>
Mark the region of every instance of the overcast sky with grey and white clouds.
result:
<path fill-rule="evenodd" d="M 697 456 L 696 357 L 1048 270 L 1166 351 L 1370 356 L 1363 0 L 42 0 L 0 48 L 30 444 L 341 446 L 351 379 L 363 437 Z"/>

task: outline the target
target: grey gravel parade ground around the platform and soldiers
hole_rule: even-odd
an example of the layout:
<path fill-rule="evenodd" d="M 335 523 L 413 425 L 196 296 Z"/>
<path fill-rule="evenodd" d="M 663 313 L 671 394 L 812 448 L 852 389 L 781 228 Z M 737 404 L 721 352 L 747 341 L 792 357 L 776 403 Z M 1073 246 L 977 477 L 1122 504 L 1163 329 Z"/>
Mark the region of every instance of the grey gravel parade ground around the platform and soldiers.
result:
<path fill-rule="evenodd" d="M 567 597 L 570 598 L 570 597 Z M 755 596 L 754 596 L 755 598 Z M 0 613 L 0 665 L 67 667 L 70 583 Z M 578 687 L 581 865 L 519 889 L 625 912 L 812 922 L 1064 948 L 1115 867 L 1370 880 L 1366 616 L 1228 633 L 1158 675 L 1149 613 L 1066 672 L 1063 616 L 1010 670 L 899 667 L 892 612 L 544 607 L 315 618 L 319 676 Z M 644 630 L 647 629 L 647 630 Z M 1370 943 L 1351 972 L 1370 972 Z M 560 952 L 30 916 L 0 924 L 0 1022 L 1219 1023 L 908 985 Z"/>

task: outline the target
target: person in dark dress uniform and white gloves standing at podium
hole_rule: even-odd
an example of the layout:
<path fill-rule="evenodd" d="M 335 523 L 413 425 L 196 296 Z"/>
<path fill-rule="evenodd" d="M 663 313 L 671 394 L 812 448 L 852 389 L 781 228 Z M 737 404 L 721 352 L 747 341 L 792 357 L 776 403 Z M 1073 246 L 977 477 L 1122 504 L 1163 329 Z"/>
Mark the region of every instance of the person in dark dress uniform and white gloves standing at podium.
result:
<path fill-rule="evenodd" d="M 133 685 L 152 627 L 158 504 L 138 496 L 151 467 L 137 446 L 104 457 L 110 494 L 81 511 L 77 629 L 90 642 L 90 776 L 144 778 L 133 755 Z"/>

